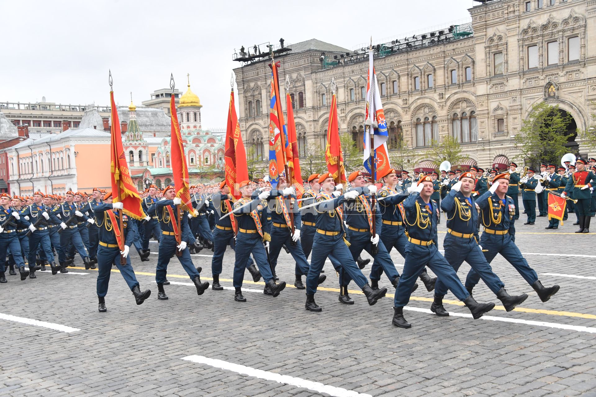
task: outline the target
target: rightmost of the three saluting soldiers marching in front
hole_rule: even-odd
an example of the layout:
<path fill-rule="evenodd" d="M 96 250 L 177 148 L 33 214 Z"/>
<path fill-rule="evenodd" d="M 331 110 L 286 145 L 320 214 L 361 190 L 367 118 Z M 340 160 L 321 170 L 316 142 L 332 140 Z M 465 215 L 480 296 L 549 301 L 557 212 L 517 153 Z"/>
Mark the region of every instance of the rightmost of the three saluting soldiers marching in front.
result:
<path fill-rule="evenodd" d="M 538 280 L 538 274 L 527 264 L 522 252 L 517 248 L 515 243 L 516 228 L 514 226 L 515 207 L 513 199 L 506 195 L 507 189 L 509 189 L 509 178 L 509 174 L 497 175 L 493 183 L 496 185 L 496 182 L 499 182 L 499 184 L 494 192 L 491 195 L 482 196 L 481 199 L 476 201 L 480 211 L 482 211 L 480 220 L 482 220 L 484 226 L 482 237 L 480 237 L 480 245 L 486 250 L 484 255 L 487 262 L 491 263 L 496 254 L 501 254 L 532 286 L 541 301 L 546 302 L 552 295 L 557 293 L 559 286 L 542 286 L 542 283 Z M 474 269 L 470 269 L 465 279 L 465 287 L 470 295 L 479 280 L 478 273 Z"/>

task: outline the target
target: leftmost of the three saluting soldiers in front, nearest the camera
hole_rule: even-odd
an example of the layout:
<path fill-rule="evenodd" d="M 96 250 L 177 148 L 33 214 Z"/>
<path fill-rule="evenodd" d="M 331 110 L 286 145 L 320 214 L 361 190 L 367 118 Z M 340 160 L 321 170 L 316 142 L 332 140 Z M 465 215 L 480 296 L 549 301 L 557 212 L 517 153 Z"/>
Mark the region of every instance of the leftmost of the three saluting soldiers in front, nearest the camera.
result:
<path fill-rule="evenodd" d="M 393 302 L 392 324 L 409 328 L 411 324 L 403 317 L 403 307 L 408 304 L 414 285 L 420 270 L 429 266 L 454 295 L 464 302 L 470 309 L 474 319 L 492 308 L 495 304 L 479 304 L 465 290 L 460 279 L 457 278 L 455 270 L 449 262 L 440 254 L 437 247 L 437 218 L 439 208 L 437 203 L 430 199 L 433 193 L 433 180 L 430 176 L 421 177 L 416 187 L 409 189 L 409 197 L 403 201 L 404 221 L 408 231 L 408 245 L 406 245 L 406 261 L 403 265 L 403 272 L 399 278 L 399 284 L 395 290 Z"/>

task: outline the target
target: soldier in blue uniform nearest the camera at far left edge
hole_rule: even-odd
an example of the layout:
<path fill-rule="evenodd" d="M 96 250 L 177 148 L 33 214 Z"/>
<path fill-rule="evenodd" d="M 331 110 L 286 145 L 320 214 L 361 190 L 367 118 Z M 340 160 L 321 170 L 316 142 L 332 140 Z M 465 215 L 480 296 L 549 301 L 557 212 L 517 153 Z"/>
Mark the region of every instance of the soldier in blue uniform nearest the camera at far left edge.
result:
<path fill-rule="evenodd" d="M 8 193 L 0 194 L 0 283 L 7 282 L 4 270 L 8 251 L 13 255 L 15 265 L 21 274 L 21 281 L 29 276 L 29 270 L 25 270 L 21 244 L 18 241 L 16 231 L 21 228 L 35 230 L 35 227 L 24 217 L 21 217 L 18 211 L 10 207 L 12 199 Z M 35 261 L 33 264 L 35 264 Z"/>

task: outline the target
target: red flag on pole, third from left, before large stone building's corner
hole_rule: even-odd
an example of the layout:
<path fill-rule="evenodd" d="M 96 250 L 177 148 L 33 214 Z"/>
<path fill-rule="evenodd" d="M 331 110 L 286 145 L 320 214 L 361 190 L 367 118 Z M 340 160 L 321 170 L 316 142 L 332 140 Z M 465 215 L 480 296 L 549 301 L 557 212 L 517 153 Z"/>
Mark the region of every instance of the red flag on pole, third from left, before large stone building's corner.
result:
<path fill-rule="evenodd" d="M 246 164 L 246 150 L 242 142 L 240 124 L 234 104 L 234 90 L 229 94 L 228 128 L 225 133 L 225 182 L 231 195 L 239 199 L 242 195 L 238 185 L 249 180 L 249 169 Z M 233 216 L 233 215 L 232 215 Z"/>

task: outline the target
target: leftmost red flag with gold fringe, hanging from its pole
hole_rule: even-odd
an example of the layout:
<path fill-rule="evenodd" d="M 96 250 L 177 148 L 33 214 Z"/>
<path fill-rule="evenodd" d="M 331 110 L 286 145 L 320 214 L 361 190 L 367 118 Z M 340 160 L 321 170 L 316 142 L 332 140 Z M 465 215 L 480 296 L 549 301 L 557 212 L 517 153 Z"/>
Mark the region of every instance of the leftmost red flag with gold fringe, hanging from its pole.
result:
<path fill-rule="evenodd" d="M 123 212 L 132 218 L 142 220 L 145 212 L 141 206 L 141 197 L 132 182 L 131 173 L 126 164 L 124 148 L 122 147 L 122 132 L 120 131 L 120 120 L 118 110 L 114 103 L 114 92 L 110 91 L 111 103 L 111 142 L 110 142 L 110 172 L 112 196 L 114 202 L 122 202 Z"/>

